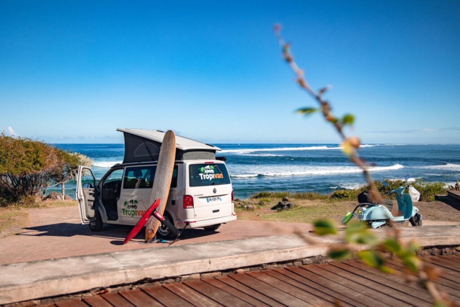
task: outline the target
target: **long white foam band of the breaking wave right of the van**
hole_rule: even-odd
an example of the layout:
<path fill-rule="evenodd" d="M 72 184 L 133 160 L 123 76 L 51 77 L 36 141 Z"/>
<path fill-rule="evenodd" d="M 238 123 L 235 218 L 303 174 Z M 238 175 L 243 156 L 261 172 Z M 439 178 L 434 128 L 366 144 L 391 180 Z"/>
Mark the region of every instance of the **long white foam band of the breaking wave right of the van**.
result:
<path fill-rule="evenodd" d="M 392 166 L 375 166 L 370 167 L 371 172 L 395 170 L 404 168 L 401 164 Z M 251 171 L 245 171 L 242 167 L 232 168 L 230 173 L 232 178 L 256 178 L 256 177 L 303 177 L 311 175 L 328 175 L 328 174 L 347 174 L 359 173 L 362 170 L 356 166 L 272 166 L 256 165 L 250 167 Z"/>

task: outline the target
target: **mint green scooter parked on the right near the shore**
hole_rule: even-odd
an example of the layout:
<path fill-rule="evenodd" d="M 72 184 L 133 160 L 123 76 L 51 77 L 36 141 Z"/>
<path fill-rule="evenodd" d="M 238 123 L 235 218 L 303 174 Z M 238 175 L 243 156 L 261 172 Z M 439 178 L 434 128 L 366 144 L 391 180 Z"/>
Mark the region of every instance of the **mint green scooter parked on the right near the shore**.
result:
<path fill-rule="evenodd" d="M 405 181 L 407 181 L 407 179 L 409 179 L 409 175 L 405 177 Z M 383 185 L 388 186 L 388 183 L 384 182 Z M 388 210 L 386 206 L 393 208 L 392 201 L 385 202 L 386 206 L 373 204 L 371 202 L 360 202 L 352 212 L 348 212 L 342 218 L 341 224 L 347 225 L 347 223 L 350 222 L 357 213 L 358 221 L 366 223 L 372 228 L 379 228 L 381 226 L 388 225 L 390 221 L 393 223 L 404 223 L 409 221 L 412 226 L 422 226 L 422 215 L 419 213 L 419 209 L 413 205 L 410 194 L 405 192 L 409 186 L 410 185 L 402 186 L 386 193 L 396 193 L 398 212 L 402 215 L 393 216 L 392 212 Z M 358 208 L 359 210 L 356 211 Z"/>

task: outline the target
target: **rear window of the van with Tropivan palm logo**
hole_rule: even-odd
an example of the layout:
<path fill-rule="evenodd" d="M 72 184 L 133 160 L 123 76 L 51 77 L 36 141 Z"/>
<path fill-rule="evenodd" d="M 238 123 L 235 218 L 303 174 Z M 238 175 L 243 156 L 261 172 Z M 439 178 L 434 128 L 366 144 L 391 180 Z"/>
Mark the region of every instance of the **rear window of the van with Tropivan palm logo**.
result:
<path fill-rule="evenodd" d="M 223 163 L 200 163 L 189 165 L 189 179 L 191 187 L 229 184 L 227 168 Z"/>

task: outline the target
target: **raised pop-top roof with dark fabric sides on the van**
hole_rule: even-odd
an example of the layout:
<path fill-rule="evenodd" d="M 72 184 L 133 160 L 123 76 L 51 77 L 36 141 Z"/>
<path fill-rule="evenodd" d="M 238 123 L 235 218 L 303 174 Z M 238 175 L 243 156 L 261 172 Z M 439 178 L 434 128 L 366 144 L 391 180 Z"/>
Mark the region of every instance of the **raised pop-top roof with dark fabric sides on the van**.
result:
<path fill-rule="evenodd" d="M 123 132 L 125 137 L 123 163 L 151 162 L 158 159 L 165 132 L 131 128 L 118 128 L 117 131 Z M 220 148 L 214 145 L 176 136 L 176 160 L 215 159 L 217 150 Z"/>

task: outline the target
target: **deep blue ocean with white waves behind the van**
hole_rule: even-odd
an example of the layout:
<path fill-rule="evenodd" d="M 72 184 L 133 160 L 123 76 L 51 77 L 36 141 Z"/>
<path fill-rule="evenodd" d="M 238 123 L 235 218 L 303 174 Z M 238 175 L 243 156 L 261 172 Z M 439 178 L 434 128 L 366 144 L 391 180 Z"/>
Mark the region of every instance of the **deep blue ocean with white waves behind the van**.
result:
<path fill-rule="evenodd" d="M 99 180 L 114 164 L 121 163 L 124 144 L 53 144 L 80 152 L 94 160 Z M 236 198 L 260 191 L 330 193 L 365 184 L 362 172 L 344 156 L 338 144 L 214 144 L 226 157 Z M 375 180 L 403 179 L 406 174 L 425 182 L 455 185 L 460 180 L 460 144 L 366 144 L 358 151 L 372 164 Z M 54 188 L 60 192 L 60 188 Z M 53 189 L 51 189 L 53 190 Z M 51 191 L 49 190 L 49 191 Z M 75 182 L 66 184 L 75 198 Z"/>

